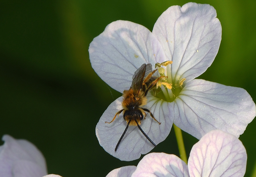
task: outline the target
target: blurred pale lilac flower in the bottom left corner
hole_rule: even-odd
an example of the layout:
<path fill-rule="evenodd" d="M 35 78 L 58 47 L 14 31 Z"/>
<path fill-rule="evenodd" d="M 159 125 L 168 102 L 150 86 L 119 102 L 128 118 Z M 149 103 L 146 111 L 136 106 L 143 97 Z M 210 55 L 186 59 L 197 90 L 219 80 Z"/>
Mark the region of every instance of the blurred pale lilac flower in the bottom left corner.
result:
<path fill-rule="evenodd" d="M 47 174 L 42 153 L 27 140 L 16 140 L 9 135 L 2 138 L 0 148 L 0 176 L 41 177 Z"/>

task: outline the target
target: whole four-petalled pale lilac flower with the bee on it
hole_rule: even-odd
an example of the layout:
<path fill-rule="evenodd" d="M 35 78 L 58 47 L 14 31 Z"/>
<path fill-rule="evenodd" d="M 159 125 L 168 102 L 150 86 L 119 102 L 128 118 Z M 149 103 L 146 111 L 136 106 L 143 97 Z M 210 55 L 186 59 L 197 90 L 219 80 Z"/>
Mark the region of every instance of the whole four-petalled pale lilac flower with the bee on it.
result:
<path fill-rule="evenodd" d="M 183 131 L 201 138 L 220 129 L 239 137 L 256 115 L 255 103 L 242 88 L 195 79 L 212 64 L 220 46 L 221 25 L 216 10 L 206 4 L 187 3 L 168 8 L 156 21 L 153 31 L 129 21 L 109 24 L 89 47 L 93 69 L 108 85 L 123 92 L 131 86 L 134 72 L 143 64 L 173 63 L 162 67 L 172 89 L 162 86 L 156 96 L 148 93 L 149 114 L 141 128 L 155 143 L 162 142 L 174 123 Z M 159 73 L 157 73 L 158 76 Z M 111 155 L 125 161 L 138 159 L 154 146 L 138 127 L 129 126 L 117 151 L 115 146 L 127 123 L 116 99 L 96 125 L 100 145 Z"/>

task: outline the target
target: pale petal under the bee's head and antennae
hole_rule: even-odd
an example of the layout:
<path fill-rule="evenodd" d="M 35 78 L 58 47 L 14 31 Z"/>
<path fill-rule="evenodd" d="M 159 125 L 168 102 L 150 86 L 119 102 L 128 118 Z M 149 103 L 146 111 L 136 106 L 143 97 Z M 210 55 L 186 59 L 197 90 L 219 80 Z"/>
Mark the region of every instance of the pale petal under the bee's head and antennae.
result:
<path fill-rule="evenodd" d="M 173 122 L 170 115 L 173 114 L 173 109 L 171 110 L 169 108 L 171 107 L 168 105 L 170 103 L 166 101 L 152 96 L 148 96 L 147 98 L 148 104 L 144 107 L 152 112 L 156 120 L 161 122 L 161 125 L 154 121 L 149 113 L 146 112 L 146 119 L 141 121 L 141 128 L 155 144 L 158 144 L 165 140 L 170 133 Z M 119 97 L 108 106 L 96 125 L 96 136 L 106 152 L 120 160 L 132 161 L 139 159 L 141 154 L 148 153 L 154 146 L 141 133 L 137 126 L 130 125 L 117 151 L 115 151 L 115 146 L 123 134 L 127 123 L 123 119 L 123 112 L 112 123 L 108 124 L 105 121 L 110 122 L 115 116 L 115 113 L 122 109 L 121 102 L 122 97 Z M 168 118 L 168 121 L 165 118 Z"/>

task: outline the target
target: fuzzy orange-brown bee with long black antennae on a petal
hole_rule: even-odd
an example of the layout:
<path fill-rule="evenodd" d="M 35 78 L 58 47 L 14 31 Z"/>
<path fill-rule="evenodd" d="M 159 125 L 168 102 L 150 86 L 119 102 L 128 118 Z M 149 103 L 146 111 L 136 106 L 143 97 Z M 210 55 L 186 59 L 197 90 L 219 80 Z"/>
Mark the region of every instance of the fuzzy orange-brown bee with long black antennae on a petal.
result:
<path fill-rule="evenodd" d="M 116 116 L 123 113 L 123 119 L 127 122 L 127 126 L 121 135 L 119 141 L 117 142 L 117 145 L 115 146 L 115 151 L 117 150 L 121 140 L 123 139 L 129 125 L 132 126 L 138 126 L 140 131 L 143 133 L 143 135 L 150 141 L 151 144 L 156 146 L 156 144 L 146 135 L 146 133 L 141 128 L 141 121 L 146 116 L 146 112 L 150 114 L 150 116 L 160 125 L 161 123 L 157 121 L 154 117 L 154 115 L 150 112 L 149 109 L 143 108 L 141 106 L 144 106 L 147 104 L 146 95 L 148 94 L 148 91 L 156 86 L 158 81 L 160 81 L 161 78 L 167 76 L 152 76 L 155 72 L 152 71 L 152 65 L 149 64 L 143 64 L 139 69 L 137 69 L 134 72 L 134 75 L 132 77 L 132 84 L 129 90 L 123 91 L 123 102 L 122 107 L 123 109 L 119 110 L 112 121 L 105 122 L 105 123 L 111 123 L 115 120 Z"/>

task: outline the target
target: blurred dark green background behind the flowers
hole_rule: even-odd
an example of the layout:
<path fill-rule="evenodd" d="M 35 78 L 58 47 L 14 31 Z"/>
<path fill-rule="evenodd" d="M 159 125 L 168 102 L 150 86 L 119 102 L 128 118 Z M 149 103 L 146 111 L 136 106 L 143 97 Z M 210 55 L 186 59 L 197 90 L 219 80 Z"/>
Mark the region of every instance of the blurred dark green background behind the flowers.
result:
<path fill-rule="evenodd" d="M 0 1 L 0 136 L 34 143 L 48 172 L 63 177 L 106 176 L 137 165 L 106 153 L 95 126 L 121 93 L 105 84 L 90 65 L 88 47 L 115 20 L 129 20 L 152 31 L 172 5 L 189 1 Z M 246 89 L 256 101 L 256 1 L 197 1 L 212 5 L 222 24 L 216 59 L 200 76 Z M 256 161 L 256 121 L 240 140 L 250 176 Z M 198 140 L 183 133 L 187 154 Z M 2 144 L 2 143 L 1 143 Z M 173 130 L 152 152 L 178 155 Z"/>

